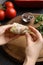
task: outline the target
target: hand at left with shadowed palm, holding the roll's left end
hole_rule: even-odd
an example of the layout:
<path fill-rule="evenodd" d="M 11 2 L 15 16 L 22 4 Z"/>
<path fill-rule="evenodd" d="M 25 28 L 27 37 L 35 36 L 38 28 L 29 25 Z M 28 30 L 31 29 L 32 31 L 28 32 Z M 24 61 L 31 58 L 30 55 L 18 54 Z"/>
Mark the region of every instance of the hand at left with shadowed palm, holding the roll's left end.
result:
<path fill-rule="evenodd" d="M 7 44 L 10 40 L 16 39 L 19 35 L 15 35 L 9 31 L 12 25 L 0 26 L 0 45 Z"/>

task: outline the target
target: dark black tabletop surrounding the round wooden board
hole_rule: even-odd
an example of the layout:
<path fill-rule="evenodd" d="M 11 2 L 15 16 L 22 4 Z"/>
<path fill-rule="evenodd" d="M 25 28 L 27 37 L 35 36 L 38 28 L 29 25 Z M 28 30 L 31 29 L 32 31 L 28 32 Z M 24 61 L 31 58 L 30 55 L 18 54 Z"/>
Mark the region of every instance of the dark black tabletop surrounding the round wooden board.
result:
<path fill-rule="evenodd" d="M 5 2 L 6 0 L 0 0 L 0 4 Z M 15 5 L 15 9 L 17 10 L 17 16 L 23 14 L 24 12 L 32 12 L 32 13 L 43 13 L 43 8 L 21 8 Z M 5 24 L 9 20 L 6 19 L 4 21 L 0 21 L 1 24 Z M 22 63 L 11 56 L 9 56 L 0 46 L 0 65 L 22 65 Z M 43 65 L 43 62 L 36 63 L 36 65 Z"/>

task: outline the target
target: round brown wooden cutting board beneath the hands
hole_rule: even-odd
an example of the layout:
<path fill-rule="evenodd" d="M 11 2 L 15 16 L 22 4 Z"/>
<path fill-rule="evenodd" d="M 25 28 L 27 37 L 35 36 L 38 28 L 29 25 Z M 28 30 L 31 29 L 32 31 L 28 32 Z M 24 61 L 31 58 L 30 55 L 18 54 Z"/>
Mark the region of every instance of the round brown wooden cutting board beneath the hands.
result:
<path fill-rule="evenodd" d="M 35 17 L 37 17 L 40 14 L 33 14 Z M 7 24 L 12 24 L 14 22 L 18 22 L 21 24 L 24 24 L 21 20 L 21 15 L 15 17 L 11 21 L 9 21 Z M 30 24 L 27 24 L 29 26 Z M 24 61 L 25 59 L 25 47 L 26 47 L 26 39 L 25 36 L 20 36 L 17 39 L 13 39 L 8 44 L 3 46 L 3 49 L 13 58 L 18 59 L 19 61 Z M 43 61 L 43 48 L 41 49 L 39 58 L 37 62 Z"/>

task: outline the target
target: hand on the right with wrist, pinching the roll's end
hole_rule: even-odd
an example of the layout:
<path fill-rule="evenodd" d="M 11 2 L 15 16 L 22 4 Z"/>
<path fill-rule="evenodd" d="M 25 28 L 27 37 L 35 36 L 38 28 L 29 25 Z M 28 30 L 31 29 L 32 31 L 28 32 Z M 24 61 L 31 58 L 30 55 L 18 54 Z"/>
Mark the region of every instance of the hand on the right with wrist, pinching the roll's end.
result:
<path fill-rule="evenodd" d="M 35 37 L 37 38 L 36 41 L 34 41 L 34 38 L 29 33 L 26 33 L 26 59 L 24 61 L 23 65 L 34 65 L 37 61 L 37 58 L 39 57 L 39 53 L 42 48 L 42 36 L 39 33 L 38 30 L 36 30 L 34 27 L 30 26 L 30 30 L 35 34 Z M 34 36 L 33 36 L 34 37 Z"/>

